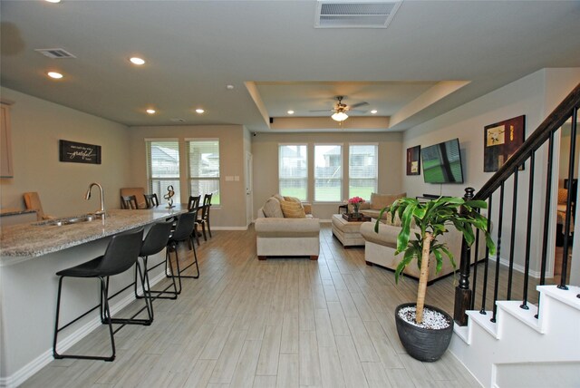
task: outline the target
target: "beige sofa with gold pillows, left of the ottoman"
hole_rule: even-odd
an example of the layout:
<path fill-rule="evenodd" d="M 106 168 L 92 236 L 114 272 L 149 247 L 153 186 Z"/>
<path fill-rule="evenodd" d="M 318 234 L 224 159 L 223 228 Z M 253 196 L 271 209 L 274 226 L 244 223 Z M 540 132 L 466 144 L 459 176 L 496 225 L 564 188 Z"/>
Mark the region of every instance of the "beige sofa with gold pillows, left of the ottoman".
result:
<path fill-rule="evenodd" d="M 297 202 L 297 205 L 290 202 Z M 268 256 L 318 259 L 320 222 L 313 217 L 308 204 L 276 194 L 257 211 L 255 228 L 257 257 L 260 260 L 266 260 Z"/>

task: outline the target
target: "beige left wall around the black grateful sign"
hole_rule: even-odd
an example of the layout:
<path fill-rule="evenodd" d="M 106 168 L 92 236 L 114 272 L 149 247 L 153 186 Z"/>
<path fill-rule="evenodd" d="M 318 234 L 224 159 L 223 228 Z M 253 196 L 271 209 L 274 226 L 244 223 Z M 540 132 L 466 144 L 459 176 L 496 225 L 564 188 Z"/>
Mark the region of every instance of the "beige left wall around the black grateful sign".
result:
<path fill-rule="evenodd" d="M 3 209 L 24 209 L 23 193 L 38 191 L 47 214 L 64 217 L 93 211 L 100 205 L 98 195 L 84 200 L 93 181 L 102 184 L 107 208 L 119 207 L 119 188 L 131 173 L 127 127 L 4 87 L 1 91 L 3 98 L 14 102 L 14 178 L 0 179 Z M 102 164 L 59 161 L 59 140 L 101 145 Z"/>

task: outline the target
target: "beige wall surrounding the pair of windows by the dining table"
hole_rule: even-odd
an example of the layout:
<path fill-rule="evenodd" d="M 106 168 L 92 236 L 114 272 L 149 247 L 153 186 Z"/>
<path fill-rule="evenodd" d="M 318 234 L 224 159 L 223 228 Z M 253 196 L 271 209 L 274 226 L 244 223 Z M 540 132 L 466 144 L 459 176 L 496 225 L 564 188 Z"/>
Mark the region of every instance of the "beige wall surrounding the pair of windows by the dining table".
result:
<path fill-rule="evenodd" d="M 246 228 L 245 142 L 240 125 L 131 127 L 131 174 L 134 185 L 147 188 L 145 139 L 179 139 L 179 160 L 187 160 L 185 139 L 218 139 L 221 205 L 211 208 L 212 228 Z M 247 135 L 246 135 L 247 136 Z M 189 199 L 187 163 L 181 162 L 181 202 Z M 239 177 L 239 180 L 226 180 Z"/>

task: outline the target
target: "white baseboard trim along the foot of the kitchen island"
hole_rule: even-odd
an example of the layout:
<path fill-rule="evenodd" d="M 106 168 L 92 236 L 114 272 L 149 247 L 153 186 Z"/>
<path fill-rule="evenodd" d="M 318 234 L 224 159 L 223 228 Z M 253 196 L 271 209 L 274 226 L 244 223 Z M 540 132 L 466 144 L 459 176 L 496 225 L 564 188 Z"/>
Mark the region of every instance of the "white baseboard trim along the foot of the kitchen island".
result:
<path fill-rule="evenodd" d="M 154 286 L 159 283 L 162 279 L 165 278 L 165 274 L 161 272 L 158 276 L 150 278 L 150 286 Z M 116 313 L 120 312 L 124 307 L 129 306 L 131 302 L 135 300 L 135 296 L 133 296 L 133 288 L 131 287 L 127 291 L 127 296 L 124 296 L 119 302 L 111 305 L 111 315 L 115 315 Z M 73 344 L 81 341 L 86 335 L 89 335 L 94 329 L 102 325 L 101 319 L 99 317 L 95 317 L 90 322 L 82 325 L 77 330 L 75 330 L 71 335 L 67 335 L 63 340 L 59 340 L 58 348 L 59 351 L 62 353 L 67 349 L 71 348 Z M 47 351 L 40 354 L 36 357 L 33 361 L 28 364 L 25 364 L 22 368 L 18 371 L 13 373 L 10 376 L 0 377 L 0 387 L 5 388 L 13 388 L 17 387 L 18 385 L 24 383 L 26 380 L 31 378 L 34 373 L 37 373 L 44 366 L 53 362 L 53 348 L 51 347 Z"/>

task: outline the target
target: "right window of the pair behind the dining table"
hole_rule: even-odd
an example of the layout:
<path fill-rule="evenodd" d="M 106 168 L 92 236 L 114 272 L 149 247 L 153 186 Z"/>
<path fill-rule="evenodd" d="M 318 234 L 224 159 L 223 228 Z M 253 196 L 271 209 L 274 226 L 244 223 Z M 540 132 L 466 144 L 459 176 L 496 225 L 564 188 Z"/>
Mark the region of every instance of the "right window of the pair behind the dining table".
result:
<path fill-rule="evenodd" d="M 189 195 L 213 194 L 212 205 L 220 204 L 219 141 L 189 139 L 186 141 L 189 160 Z"/>

